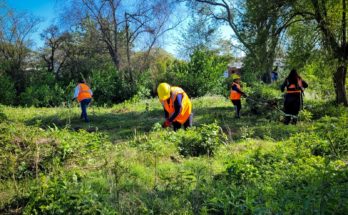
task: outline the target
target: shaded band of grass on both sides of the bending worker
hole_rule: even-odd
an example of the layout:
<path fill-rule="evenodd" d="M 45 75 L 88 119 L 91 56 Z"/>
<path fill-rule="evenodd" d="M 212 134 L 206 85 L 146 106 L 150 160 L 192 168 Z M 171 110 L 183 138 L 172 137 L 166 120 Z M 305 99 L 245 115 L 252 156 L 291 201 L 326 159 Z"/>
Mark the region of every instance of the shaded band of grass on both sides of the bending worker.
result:
<path fill-rule="evenodd" d="M 233 106 L 196 108 L 193 109 L 193 114 L 194 126 L 217 122 L 231 140 L 242 137 L 285 140 L 301 129 L 298 126 L 283 126 L 280 122 L 243 111 L 242 117 L 236 119 Z M 162 110 L 117 112 L 110 109 L 109 112 L 89 113 L 90 123 L 80 120 L 79 115 L 74 113 L 73 116 L 58 114 L 35 117 L 26 121 L 26 124 L 43 129 L 67 127 L 75 131 L 99 131 L 107 134 L 111 141 L 118 142 L 131 138 L 135 133 L 150 132 L 156 122 L 163 122 L 163 115 Z"/>

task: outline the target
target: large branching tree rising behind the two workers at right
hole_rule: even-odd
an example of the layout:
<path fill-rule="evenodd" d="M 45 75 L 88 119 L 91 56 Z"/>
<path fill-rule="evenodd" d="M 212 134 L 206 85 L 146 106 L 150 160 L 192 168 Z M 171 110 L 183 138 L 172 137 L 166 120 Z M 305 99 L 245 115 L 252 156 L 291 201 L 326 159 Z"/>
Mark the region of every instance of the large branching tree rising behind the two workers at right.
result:
<path fill-rule="evenodd" d="M 261 0 L 193 0 L 198 11 L 214 20 L 228 24 L 240 47 L 253 64 L 253 71 L 263 74 L 270 82 L 270 71 L 275 58 L 279 37 L 293 16 L 286 1 Z M 203 9 L 200 7 L 203 7 Z"/>

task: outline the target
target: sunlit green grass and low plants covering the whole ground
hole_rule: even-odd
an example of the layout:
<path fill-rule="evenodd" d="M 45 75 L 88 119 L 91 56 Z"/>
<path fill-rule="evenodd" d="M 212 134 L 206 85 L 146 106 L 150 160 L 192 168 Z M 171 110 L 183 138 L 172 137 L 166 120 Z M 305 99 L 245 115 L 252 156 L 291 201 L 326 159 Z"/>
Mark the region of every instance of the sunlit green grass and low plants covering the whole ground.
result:
<path fill-rule="evenodd" d="M 196 128 L 177 133 L 159 128 L 156 99 L 92 106 L 91 123 L 77 106 L 1 106 L 0 212 L 347 213 L 346 109 L 309 100 L 285 126 L 277 110 L 243 105 L 235 119 L 223 97 L 193 99 Z"/>

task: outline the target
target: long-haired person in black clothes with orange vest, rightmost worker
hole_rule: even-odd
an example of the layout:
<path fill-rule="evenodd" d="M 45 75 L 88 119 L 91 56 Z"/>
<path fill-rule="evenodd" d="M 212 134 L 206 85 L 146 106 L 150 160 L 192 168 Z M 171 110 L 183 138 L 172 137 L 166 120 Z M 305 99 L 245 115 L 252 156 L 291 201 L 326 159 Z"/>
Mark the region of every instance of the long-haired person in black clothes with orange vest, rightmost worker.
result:
<path fill-rule="evenodd" d="M 308 84 L 297 74 L 296 69 L 292 69 L 289 76 L 280 87 L 282 92 L 286 89 L 284 100 L 284 124 L 288 125 L 290 122 L 292 124 L 297 123 L 297 116 L 302 106 L 303 91 L 304 88 L 307 87 Z"/>

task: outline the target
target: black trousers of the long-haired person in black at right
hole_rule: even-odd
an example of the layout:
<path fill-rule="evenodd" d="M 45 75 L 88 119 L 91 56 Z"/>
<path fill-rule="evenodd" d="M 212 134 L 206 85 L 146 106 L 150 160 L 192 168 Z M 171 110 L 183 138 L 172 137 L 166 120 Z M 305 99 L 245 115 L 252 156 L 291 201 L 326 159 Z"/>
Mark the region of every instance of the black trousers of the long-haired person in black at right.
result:
<path fill-rule="evenodd" d="M 301 110 L 301 94 L 300 93 L 288 93 L 285 95 L 284 100 L 284 124 L 297 123 L 297 115 Z"/>

